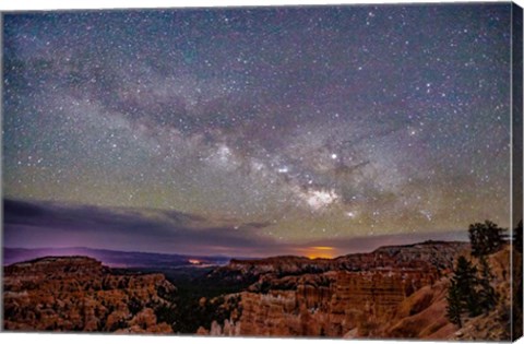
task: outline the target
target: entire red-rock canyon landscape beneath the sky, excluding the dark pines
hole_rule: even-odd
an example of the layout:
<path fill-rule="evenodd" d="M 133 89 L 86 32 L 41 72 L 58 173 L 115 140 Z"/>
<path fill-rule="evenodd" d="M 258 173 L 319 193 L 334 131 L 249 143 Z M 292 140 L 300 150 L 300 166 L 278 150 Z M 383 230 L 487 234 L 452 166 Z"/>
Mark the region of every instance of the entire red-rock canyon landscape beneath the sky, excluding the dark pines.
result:
<path fill-rule="evenodd" d="M 4 266 L 4 329 L 508 340 L 509 246 L 488 257 L 497 308 L 462 329 L 445 316 L 450 275 L 458 256 L 476 262 L 469 252 L 467 242 L 426 241 L 335 259 L 234 259 L 187 286 L 91 258 L 48 257 Z"/>

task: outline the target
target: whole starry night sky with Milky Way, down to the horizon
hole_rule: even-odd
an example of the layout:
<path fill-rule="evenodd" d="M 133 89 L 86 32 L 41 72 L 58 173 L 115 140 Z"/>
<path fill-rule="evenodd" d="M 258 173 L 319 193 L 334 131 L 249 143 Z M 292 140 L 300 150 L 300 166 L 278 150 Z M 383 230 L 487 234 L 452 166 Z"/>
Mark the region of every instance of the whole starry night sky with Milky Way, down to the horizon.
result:
<path fill-rule="evenodd" d="M 3 17 L 4 246 L 336 256 L 510 226 L 511 7 Z"/>

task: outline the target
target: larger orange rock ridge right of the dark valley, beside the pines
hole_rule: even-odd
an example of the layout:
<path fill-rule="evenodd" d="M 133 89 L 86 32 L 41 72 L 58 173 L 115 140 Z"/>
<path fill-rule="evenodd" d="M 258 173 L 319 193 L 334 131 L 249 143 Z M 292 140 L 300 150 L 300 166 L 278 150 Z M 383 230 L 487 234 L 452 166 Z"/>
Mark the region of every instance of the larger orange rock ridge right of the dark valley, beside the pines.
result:
<path fill-rule="evenodd" d="M 255 282 L 237 295 L 235 317 L 224 324 L 215 322 L 209 330 L 200 329 L 200 333 L 440 337 L 445 332 L 451 335 L 445 317 L 422 327 L 426 329 L 422 333 L 410 331 L 413 323 L 403 324 L 402 320 L 430 306 L 428 315 L 445 313 L 445 276 L 452 271 L 457 253 L 467 249 L 465 242 L 427 241 L 382 247 L 370 253 L 333 260 L 279 257 L 231 261 L 211 276 Z"/>

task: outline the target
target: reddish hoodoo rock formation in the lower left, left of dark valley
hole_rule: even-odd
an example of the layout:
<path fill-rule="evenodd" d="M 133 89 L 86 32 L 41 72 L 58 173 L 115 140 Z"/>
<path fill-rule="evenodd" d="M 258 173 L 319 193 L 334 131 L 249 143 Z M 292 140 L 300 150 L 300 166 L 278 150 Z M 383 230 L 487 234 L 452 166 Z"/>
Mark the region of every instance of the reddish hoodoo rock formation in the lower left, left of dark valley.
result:
<path fill-rule="evenodd" d="M 86 257 L 48 257 L 4 268 L 4 329 L 171 332 L 155 309 L 175 286 L 162 274 L 120 274 Z"/>

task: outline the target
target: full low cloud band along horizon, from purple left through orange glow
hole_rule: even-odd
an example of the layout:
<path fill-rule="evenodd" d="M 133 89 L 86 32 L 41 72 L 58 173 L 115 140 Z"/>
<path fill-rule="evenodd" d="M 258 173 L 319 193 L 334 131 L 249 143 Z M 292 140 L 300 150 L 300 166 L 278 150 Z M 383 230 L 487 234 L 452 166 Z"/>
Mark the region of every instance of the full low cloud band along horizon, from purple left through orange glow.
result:
<path fill-rule="evenodd" d="M 330 247 L 330 256 L 371 251 L 380 246 L 467 240 L 466 232 L 337 237 L 305 242 L 275 241 L 262 234 L 272 224 L 219 224 L 175 211 L 103 209 L 4 200 L 4 247 L 91 247 L 128 251 L 228 257 L 305 256 Z"/>

